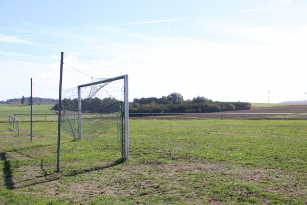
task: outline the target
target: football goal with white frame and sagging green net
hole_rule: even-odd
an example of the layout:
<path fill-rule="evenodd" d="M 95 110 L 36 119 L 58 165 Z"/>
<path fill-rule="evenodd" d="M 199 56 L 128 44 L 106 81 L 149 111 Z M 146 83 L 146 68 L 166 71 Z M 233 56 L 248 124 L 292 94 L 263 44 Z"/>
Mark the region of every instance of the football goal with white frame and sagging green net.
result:
<path fill-rule="evenodd" d="M 92 78 L 62 90 L 61 127 L 74 139 L 92 139 L 116 128 L 122 159 L 128 159 L 128 75 Z"/>

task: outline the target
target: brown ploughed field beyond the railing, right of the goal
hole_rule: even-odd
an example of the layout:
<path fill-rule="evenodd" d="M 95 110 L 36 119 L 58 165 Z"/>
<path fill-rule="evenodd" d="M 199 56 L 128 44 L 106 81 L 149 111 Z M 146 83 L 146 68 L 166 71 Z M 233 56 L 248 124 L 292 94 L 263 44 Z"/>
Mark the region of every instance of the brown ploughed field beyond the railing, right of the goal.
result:
<path fill-rule="evenodd" d="M 133 114 L 130 113 L 129 119 L 301 119 L 307 120 L 307 105 L 287 105 L 272 107 L 254 107 L 251 110 L 234 110 L 215 113 L 187 113 L 187 114 Z"/>

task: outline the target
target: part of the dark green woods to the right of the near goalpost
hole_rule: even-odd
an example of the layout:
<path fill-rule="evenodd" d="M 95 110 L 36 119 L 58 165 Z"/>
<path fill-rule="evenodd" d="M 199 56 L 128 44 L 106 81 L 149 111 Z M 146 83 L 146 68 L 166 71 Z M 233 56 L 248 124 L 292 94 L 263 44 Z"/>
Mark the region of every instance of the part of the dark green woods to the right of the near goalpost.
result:
<path fill-rule="evenodd" d="M 208 113 L 249 109 L 250 103 L 212 101 L 200 96 L 184 100 L 180 93 L 171 93 L 160 98 L 135 98 L 129 103 L 129 113 Z"/>

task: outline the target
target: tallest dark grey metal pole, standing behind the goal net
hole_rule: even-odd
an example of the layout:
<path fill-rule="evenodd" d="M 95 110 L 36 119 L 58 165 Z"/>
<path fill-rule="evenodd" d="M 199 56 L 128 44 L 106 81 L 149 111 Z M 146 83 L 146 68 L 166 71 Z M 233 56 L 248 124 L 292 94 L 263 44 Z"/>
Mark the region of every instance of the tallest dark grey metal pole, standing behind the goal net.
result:
<path fill-rule="evenodd" d="M 56 172 L 60 172 L 60 139 L 61 139 L 61 110 L 62 110 L 62 74 L 63 74 L 63 56 L 61 52 L 61 65 L 60 65 L 60 85 L 59 85 L 59 109 L 58 109 L 58 147 L 56 159 Z"/>

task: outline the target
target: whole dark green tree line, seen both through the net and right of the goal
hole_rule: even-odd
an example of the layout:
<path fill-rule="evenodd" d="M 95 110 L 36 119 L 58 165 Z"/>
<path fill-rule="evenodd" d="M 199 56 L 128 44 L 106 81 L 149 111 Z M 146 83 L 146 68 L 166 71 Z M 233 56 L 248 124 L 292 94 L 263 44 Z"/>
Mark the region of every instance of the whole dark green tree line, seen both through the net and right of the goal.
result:
<path fill-rule="evenodd" d="M 115 98 L 85 98 L 81 99 L 82 110 L 93 112 L 99 110 L 101 107 L 106 107 L 118 103 Z M 69 107 L 70 109 L 78 110 L 78 99 L 62 100 L 62 106 Z M 58 109 L 58 104 L 54 107 Z M 167 96 L 157 97 L 142 97 L 135 98 L 129 102 L 129 113 L 208 113 L 208 112 L 221 112 L 232 110 L 249 110 L 251 109 L 250 103 L 243 102 L 221 102 L 213 101 L 204 96 L 193 97 L 193 99 L 184 100 L 182 94 L 171 93 Z"/>

